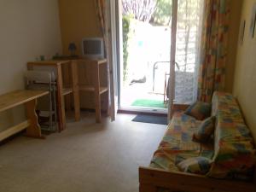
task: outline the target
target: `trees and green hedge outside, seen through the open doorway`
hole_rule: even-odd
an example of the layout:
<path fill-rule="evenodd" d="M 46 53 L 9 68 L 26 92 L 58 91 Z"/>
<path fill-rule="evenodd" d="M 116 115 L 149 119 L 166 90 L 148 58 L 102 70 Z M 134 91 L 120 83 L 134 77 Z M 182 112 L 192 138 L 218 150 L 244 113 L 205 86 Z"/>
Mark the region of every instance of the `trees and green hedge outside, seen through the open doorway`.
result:
<path fill-rule="evenodd" d="M 128 76 L 129 42 L 136 31 L 131 20 L 158 26 L 170 26 L 172 0 L 122 0 L 123 6 L 123 81 Z"/>

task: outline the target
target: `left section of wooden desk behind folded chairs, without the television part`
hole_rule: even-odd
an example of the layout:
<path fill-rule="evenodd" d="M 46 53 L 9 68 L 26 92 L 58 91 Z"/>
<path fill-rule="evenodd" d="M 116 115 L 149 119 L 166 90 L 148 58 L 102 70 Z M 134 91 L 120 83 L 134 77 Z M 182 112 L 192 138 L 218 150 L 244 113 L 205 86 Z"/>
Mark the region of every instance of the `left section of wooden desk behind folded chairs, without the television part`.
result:
<path fill-rule="evenodd" d="M 71 88 L 63 88 L 62 70 L 63 65 L 69 65 L 71 67 L 72 85 Z M 33 61 L 27 63 L 27 69 L 32 70 L 35 66 L 55 67 L 57 72 L 57 114 L 59 131 L 63 131 L 66 128 L 66 114 L 64 96 L 67 94 L 73 94 L 73 103 L 75 111 L 75 119 L 80 119 L 80 100 L 79 100 L 79 78 L 77 75 L 77 64 L 75 61 Z"/>

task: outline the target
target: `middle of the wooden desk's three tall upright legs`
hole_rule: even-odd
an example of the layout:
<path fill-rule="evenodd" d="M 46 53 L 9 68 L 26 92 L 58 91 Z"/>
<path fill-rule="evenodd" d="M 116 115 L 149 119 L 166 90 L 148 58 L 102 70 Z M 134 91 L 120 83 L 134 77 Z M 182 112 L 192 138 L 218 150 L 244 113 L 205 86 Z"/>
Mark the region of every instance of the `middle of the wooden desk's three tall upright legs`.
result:
<path fill-rule="evenodd" d="M 80 120 L 80 97 L 79 97 L 79 74 L 78 63 L 76 61 L 71 62 L 72 72 L 72 86 L 73 86 L 73 108 L 75 112 L 76 121 Z"/>

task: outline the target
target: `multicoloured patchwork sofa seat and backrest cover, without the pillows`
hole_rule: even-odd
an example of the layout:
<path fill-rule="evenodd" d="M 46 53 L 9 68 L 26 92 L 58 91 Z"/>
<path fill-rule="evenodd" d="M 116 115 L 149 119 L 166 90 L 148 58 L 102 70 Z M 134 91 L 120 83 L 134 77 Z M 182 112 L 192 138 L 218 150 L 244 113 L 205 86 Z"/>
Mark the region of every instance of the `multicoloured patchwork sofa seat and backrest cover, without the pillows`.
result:
<path fill-rule="evenodd" d="M 216 116 L 214 141 L 195 143 L 193 134 L 198 131 L 201 121 L 184 113 L 175 113 L 150 166 L 178 172 L 177 164 L 202 156 L 212 160 L 208 177 L 251 178 L 255 165 L 253 137 L 236 99 L 230 94 L 215 92 L 212 115 Z"/>

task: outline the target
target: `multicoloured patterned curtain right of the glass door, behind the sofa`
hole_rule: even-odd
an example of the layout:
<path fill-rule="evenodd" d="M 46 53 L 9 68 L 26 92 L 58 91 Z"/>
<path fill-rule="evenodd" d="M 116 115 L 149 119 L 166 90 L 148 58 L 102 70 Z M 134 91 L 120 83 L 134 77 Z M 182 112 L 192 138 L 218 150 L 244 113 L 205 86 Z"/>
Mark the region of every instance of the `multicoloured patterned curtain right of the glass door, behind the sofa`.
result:
<path fill-rule="evenodd" d="M 204 11 L 198 100 L 211 102 L 213 91 L 225 86 L 230 0 L 207 0 Z"/>

